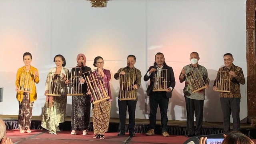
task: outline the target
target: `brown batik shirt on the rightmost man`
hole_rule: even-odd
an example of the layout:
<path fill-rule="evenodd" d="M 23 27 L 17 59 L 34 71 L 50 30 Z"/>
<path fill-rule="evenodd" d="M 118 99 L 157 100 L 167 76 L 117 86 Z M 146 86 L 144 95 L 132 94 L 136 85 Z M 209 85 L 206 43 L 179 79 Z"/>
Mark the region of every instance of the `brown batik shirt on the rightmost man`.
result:
<path fill-rule="evenodd" d="M 220 79 L 221 71 L 234 71 L 237 76 L 230 76 L 230 92 L 220 92 L 220 98 L 241 98 L 240 84 L 245 84 L 244 73 L 242 68 L 235 66 L 234 64 L 232 64 L 230 69 L 228 69 L 226 66 L 223 66 L 219 69 L 217 77 L 214 80 L 213 86 L 216 86 L 217 79 Z"/>

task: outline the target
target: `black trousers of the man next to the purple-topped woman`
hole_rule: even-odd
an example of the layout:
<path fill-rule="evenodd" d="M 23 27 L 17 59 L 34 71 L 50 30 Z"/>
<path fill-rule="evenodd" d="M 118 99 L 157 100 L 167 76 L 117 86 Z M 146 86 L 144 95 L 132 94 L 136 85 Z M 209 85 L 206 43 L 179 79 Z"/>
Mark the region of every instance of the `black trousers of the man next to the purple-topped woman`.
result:
<path fill-rule="evenodd" d="M 126 132 L 125 121 L 126 121 L 126 110 L 128 107 L 129 114 L 129 132 L 134 132 L 135 126 L 135 109 L 137 101 L 135 100 L 119 100 L 118 99 L 118 108 L 119 108 L 119 131 Z"/>

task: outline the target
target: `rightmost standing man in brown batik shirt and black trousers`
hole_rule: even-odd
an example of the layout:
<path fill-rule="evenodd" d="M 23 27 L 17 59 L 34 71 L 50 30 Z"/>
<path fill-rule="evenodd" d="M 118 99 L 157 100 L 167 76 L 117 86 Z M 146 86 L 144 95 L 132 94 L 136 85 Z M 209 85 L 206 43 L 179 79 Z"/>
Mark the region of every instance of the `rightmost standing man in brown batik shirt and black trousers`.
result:
<path fill-rule="evenodd" d="M 240 130 L 240 84 L 245 84 L 244 73 L 242 68 L 233 64 L 234 58 L 232 54 L 226 53 L 223 56 L 224 64 L 218 70 L 217 78 L 220 79 L 220 72 L 229 72 L 230 75 L 230 92 L 220 92 L 220 105 L 223 113 L 224 133 L 230 132 L 230 112 L 233 118 L 233 131 Z M 216 91 L 216 81 L 214 80 L 213 90 Z"/>

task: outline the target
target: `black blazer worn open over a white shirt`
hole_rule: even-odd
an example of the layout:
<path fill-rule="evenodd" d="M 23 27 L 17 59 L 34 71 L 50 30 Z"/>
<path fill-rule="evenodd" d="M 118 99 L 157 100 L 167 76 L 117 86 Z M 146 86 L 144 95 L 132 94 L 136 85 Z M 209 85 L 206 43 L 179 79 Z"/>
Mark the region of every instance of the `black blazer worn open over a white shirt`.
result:
<path fill-rule="evenodd" d="M 155 68 L 156 69 L 156 65 L 154 66 L 150 66 L 147 73 L 144 76 L 144 81 L 148 81 L 150 79 L 150 85 L 147 88 L 147 95 L 150 96 L 152 94 L 152 90 L 153 90 L 153 86 L 154 86 L 154 82 L 153 82 L 153 72 L 150 74 L 150 76 L 148 76 L 148 72 L 151 70 L 151 68 Z M 174 78 L 174 72 L 172 70 L 172 67 L 170 66 L 166 66 L 164 64 L 162 69 L 167 69 L 167 87 L 172 87 L 172 90 L 174 89 L 175 86 L 175 78 Z M 166 98 L 172 98 L 172 92 L 165 92 L 166 93 Z"/>

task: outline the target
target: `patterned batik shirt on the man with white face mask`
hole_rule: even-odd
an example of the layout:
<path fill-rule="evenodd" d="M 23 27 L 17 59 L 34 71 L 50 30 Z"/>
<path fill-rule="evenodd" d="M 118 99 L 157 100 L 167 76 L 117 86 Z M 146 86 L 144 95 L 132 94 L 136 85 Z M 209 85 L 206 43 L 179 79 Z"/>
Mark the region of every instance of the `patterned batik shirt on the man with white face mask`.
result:
<path fill-rule="evenodd" d="M 204 83 L 206 85 L 209 85 L 210 79 L 208 78 L 208 73 L 207 73 L 206 68 L 204 66 L 199 65 L 199 64 L 197 65 L 197 68 L 200 72 L 200 75 L 202 76 L 202 78 L 204 80 Z M 190 78 L 192 78 L 191 77 L 191 74 L 192 74 L 191 71 L 194 69 L 192 67 L 192 64 L 184 66 L 183 69 L 186 72 L 186 74 L 184 76 L 184 80 L 185 80 L 185 87 L 183 89 L 184 96 L 186 96 L 187 98 L 194 99 L 194 100 L 205 100 L 204 89 L 192 93 L 192 87 L 194 87 L 194 89 L 195 89 L 195 86 L 192 86 L 191 82 L 189 82 Z M 180 76 L 181 76 L 181 74 L 180 74 Z M 203 83 L 203 82 L 201 82 L 201 83 Z"/>

